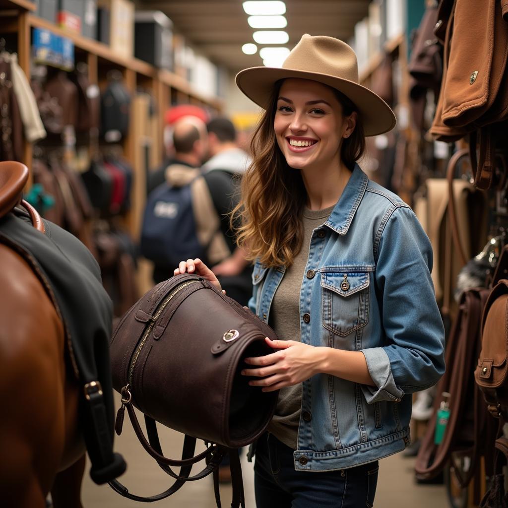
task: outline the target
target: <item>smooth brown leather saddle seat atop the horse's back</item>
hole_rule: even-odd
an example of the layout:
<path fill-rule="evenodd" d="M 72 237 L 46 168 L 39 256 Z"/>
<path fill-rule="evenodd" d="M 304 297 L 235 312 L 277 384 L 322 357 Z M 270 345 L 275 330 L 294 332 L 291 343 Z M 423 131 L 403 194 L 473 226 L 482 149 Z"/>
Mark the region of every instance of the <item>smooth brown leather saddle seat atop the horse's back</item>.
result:
<path fill-rule="evenodd" d="M 0 162 L 0 218 L 21 205 L 30 215 L 34 228 L 44 233 L 44 223 L 38 211 L 22 199 L 28 181 L 28 168 L 19 162 Z"/>

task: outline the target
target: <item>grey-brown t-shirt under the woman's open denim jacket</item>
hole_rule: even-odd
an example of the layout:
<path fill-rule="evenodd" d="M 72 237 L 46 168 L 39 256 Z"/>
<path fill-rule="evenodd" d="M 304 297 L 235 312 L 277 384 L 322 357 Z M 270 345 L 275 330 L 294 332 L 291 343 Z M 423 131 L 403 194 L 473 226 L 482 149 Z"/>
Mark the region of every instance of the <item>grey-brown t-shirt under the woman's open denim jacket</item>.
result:
<path fill-rule="evenodd" d="M 300 341 L 300 291 L 309 257 L 312 231 L 321 226 L 332 213 L 334 206 L 323 210 L 304 209 L 302 249 L 293 264 L 285 271 L 273 297 L 270 324 L 280 340 Z M 268 431 L 293 450 L 297 449 L 298 425 L 302 405 L 302 384 L 282 388 L 275 415 Z"/>

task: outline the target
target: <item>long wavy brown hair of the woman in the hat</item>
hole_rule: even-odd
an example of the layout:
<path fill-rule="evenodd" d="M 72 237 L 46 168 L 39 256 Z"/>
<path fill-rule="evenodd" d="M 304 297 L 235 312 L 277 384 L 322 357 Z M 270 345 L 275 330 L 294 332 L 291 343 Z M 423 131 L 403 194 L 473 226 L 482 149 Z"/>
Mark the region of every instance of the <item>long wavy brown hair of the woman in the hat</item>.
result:
<path fill-rule="evenodd" d="M 252 163 L 242 178 L 241 199 L 232 212 L 241 218 L 237 243 L 249 260 L 258 259 L 265 266 L 293 264 L 302 248 L 301 215 L 307 192 L 300 171 L 291 168 L 277 144 L 273 122 L 283 80 L 275 84 L 270 107 L 262 115 L 252 136 Z M 342 114 L 358 111 L 353 102 L 331 88 L 342 105 Z M 358 116 L 350 137 L 343 139 L 340 157 L 353 170 L 365 150 L 363 124 Z"/>

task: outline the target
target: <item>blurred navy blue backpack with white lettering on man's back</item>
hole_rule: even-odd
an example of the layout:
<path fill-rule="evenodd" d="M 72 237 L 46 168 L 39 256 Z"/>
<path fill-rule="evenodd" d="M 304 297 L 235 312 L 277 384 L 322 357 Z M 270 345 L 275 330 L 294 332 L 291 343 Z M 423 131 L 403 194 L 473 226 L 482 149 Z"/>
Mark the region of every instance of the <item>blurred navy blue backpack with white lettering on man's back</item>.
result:
<path fill-rule="evenodd" d="M 171 187 L 165 182 L 148 195 L 140 249 L 157 267 L 174 269 L 190 258 L 207 263 L 208 245 L 202 245 L 196 234 L 191 184 Z"/>

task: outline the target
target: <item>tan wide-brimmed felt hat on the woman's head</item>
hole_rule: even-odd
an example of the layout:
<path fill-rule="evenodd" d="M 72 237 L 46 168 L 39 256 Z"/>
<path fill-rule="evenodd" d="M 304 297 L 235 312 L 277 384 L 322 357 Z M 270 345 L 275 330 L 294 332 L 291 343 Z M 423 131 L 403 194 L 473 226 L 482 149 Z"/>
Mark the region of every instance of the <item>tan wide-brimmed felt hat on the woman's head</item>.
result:
<path fill-rule="evenodd" d="M 285 78 L 311 79 L 342 92 L 362 115 L 365 136 L 383 134 L 395 126 L 396 119 L 390 106 L 358 83 L 356 54 L 345 42 L 305 34 L 281 68 L 244 69 L 236 75 L 236 84 L 250 100 L 266 109 L 275 82 Z"/>

